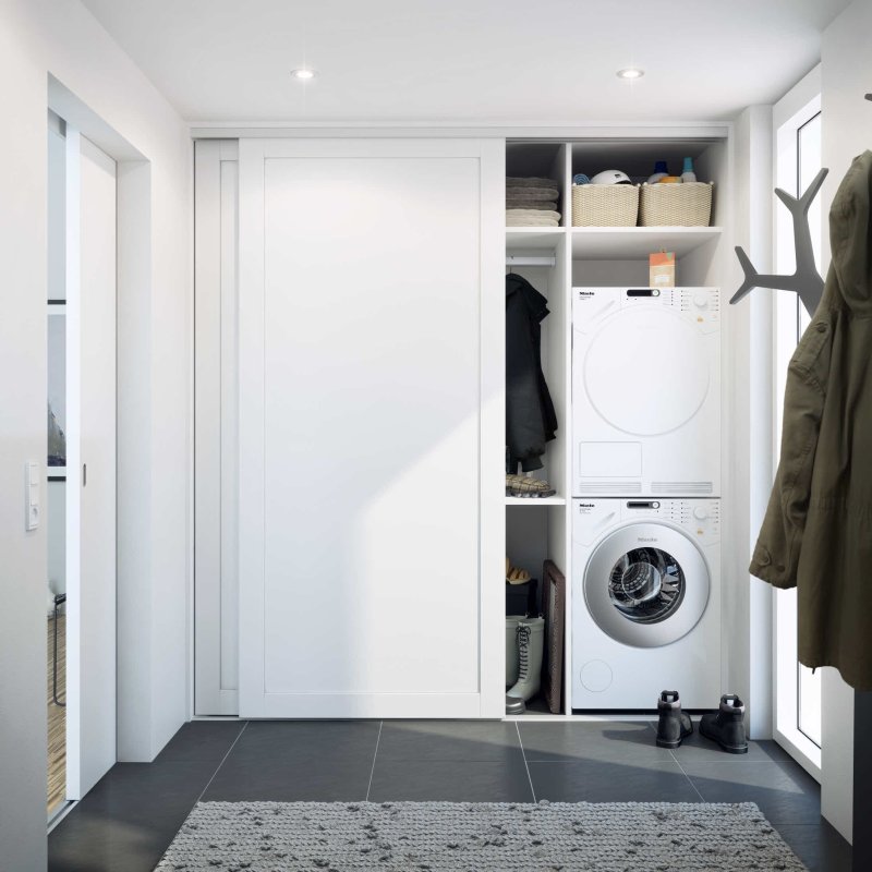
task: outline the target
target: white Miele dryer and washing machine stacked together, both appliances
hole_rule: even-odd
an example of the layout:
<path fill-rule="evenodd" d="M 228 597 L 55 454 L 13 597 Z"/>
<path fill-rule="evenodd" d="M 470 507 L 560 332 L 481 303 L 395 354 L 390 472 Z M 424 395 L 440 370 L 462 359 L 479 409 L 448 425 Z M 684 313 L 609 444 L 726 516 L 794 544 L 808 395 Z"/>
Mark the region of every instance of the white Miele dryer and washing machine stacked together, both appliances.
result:
<path fill-rule="evenodd" d="M 720 296 L 572 291 L 573 710 L 720 694 Z"/>

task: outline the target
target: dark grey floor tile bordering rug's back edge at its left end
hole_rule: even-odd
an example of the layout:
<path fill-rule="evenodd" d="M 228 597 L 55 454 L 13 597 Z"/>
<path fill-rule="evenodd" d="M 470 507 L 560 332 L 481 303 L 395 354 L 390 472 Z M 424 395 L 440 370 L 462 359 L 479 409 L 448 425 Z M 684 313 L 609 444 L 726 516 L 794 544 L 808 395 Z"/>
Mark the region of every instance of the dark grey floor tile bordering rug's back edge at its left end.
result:
<path fill-rule="evenodd" d="M 341 802 L 366 799 L 373 751 L 358 758 L 329 753 L 237 754 L 225 761 L 204 801 Z"/>

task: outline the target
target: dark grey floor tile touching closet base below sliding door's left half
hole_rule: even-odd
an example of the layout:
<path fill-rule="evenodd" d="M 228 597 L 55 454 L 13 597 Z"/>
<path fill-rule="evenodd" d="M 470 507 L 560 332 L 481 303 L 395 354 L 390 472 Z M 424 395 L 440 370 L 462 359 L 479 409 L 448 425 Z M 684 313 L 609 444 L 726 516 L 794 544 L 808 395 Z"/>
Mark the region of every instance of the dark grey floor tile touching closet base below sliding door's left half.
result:
<path fill-rule="evenodd" d="M 378 720 L 250 720 L 229 760 L 365 760 L 372 765 L 378 726 Z"/>

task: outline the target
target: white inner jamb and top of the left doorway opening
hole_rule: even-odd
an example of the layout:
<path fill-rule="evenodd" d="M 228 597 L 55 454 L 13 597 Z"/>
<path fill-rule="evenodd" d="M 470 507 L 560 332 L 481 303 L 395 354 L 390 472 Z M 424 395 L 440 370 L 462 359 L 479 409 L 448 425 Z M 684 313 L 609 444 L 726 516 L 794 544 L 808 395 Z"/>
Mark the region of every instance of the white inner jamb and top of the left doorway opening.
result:
<path fill-rule="evenodd" d="M 150 487 L 153 449 L 142 410 L 152 400 L 149 332 L 143 329 L 153 322 L 152 165 L 51 74 L 48 108 L 117 162 L 117 635 L 124 642 L 117 646 L 117 759 L 150 761 L 152 630 L 146 616 L 154 606 L 149 555 L 142 547 L 149 502 L 142 494 Z M 185 375 L 193 377 L 193 372 Z"/>

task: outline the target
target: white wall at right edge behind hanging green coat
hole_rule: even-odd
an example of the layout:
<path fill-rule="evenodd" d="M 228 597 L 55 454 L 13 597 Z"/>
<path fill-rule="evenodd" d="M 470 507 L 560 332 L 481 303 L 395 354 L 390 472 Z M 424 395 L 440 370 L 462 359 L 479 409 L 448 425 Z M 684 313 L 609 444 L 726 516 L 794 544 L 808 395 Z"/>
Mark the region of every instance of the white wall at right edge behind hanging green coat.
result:
<path fill-rule="evenodd" d="M 855 0 L 824 33 L 821 50 L 823 156 L 829 175 L 821 196 L 828 209 L 851 159 L 872 148 L 872 3 Z M 826 214 L 826 213 L 825 213 Z M 829 263 L 825 237 L 823 263 Z M 824 669 L 821 807 L 848 840 L 852 836 L 853 691 L 835 669 Z"/>

